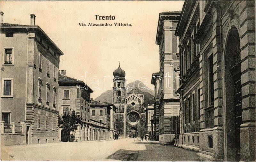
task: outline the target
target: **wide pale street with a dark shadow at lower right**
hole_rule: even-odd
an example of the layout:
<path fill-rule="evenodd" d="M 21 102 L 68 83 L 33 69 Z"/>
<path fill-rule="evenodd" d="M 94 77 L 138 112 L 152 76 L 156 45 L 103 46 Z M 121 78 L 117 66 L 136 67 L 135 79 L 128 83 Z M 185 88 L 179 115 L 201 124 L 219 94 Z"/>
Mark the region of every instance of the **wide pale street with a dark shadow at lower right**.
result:
<path fill-rule="evenodd" d="M 134 139 L 1 147 L 1 160 L 198 161 L 196 152 Z"/>

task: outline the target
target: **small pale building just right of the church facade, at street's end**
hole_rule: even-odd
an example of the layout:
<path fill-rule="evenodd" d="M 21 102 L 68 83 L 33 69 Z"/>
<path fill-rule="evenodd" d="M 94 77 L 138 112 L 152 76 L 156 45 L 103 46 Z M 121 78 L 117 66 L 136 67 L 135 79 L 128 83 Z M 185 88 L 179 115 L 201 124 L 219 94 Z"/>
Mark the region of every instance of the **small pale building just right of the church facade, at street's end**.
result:
<path fill-rule="evenodd" d="M 149 134 L 149 138 L 151 140 L 155 140 L 155 110 L 154 110 L 154 105 L 148 105 L 148 107 L 144 108 L 145 114 L 146 114 L 146 123 L 145 123 L 145 133 Z"/>

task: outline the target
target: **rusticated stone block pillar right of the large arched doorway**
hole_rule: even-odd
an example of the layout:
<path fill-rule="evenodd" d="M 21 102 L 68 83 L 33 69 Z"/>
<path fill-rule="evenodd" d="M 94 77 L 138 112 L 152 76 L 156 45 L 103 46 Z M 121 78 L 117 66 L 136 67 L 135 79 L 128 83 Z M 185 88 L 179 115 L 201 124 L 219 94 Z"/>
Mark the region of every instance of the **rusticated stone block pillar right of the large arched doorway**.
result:
<path fill-rule="evenodd" d="M 241 161 L 255 161 L 255 2 L 239 4 L 241 36 L 242 118 Z M 252 25 L 254 24 L 254 25 Z"/>

